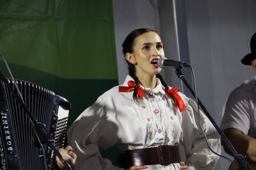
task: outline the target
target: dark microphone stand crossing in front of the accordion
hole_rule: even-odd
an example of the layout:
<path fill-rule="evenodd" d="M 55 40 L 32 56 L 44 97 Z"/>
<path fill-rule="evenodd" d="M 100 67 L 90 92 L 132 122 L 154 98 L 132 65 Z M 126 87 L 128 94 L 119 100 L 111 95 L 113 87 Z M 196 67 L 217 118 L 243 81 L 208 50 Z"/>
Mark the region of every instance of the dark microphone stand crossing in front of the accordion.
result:
<path fill-rule="evenodd" d="M 72 170 L 71 167 L 68 165 L 68 163 L 63 159 L 63 157 L 61 156 L 61 154 L 58 151 L 58 149 L 56 148 L 56 146 L 54 145 L 54 139 L 52 139 L 51 135 L 46 131 L 45 124 L 42 124 L 41 122 L 38 122 L 36 120 L 36 118 L 33 117 L 31 112 L 28 110 L 28 108 L 22 102 L 20 97 L 17 96 L 17 94 L 12 89 L 12 87 L 10 86 L 10 84 L 8 83 L 8 81 L 6 80 L 6 78 L 3 76 L 3 74 L 1 72 L 0 72 L 0 77 L 4 81 L 4 83 L 7 85 L 7 88 L 10 90 L 10 92 L 12 92 L 13 96 L 15 96 L 15 98 L 19 102 L 20 106 L 22 106 L 22 108 L 24 109 L 24 112 L 28 116 L 29 120 L 31 120 L 36 134 L 38 134 L 40 139 L 42 139 L 47 144 L 47 146 L 49 146 L 49 148 L 51 148 L 53 150 L 53 152 L 56 153 L 56 155 L 59 157 L 62 164 L 65 166 L 65 168 L 68 169 L 68 170 Z"/>

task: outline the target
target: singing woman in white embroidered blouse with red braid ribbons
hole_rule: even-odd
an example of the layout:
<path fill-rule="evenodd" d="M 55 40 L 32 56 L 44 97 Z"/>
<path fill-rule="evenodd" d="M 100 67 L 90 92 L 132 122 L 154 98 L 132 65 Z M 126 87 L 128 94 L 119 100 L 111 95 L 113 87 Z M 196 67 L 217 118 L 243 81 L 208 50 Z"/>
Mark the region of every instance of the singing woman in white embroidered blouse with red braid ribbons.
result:
<path fill-rule="evenodd" d="M 219 157 L 200 131 L 196 103 L 159 74 L 157 60 L 164 57 L 159 35 L 136 29 L 122 46 L 129 69 L 124 84 L 102 94 L 68 129 L 76 169 L 214 169 Z M 212 150 L 220 153 L 218 132 L 202 113 L 200 122 Z M 124 151 L 120 167 L 100 155 L 112 146 Z"/>

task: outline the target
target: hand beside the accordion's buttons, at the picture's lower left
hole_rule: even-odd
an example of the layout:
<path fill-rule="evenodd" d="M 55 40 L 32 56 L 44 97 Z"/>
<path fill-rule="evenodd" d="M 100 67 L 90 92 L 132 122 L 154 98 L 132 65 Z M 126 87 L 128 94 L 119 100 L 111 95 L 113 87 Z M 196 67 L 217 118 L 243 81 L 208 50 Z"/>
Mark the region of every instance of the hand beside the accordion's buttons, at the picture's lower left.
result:
<path fill-rule="evenodd" d="M 66 146 L 64 149 L 59 148 L 61 156 L 70 166 L 74 166 L 76 163 L 76 153 L 72 152 L 72 150 L 71 146 Z M 56 164 L 60 169 L 65 169 L 58 156 L 56 156 Z"/>

